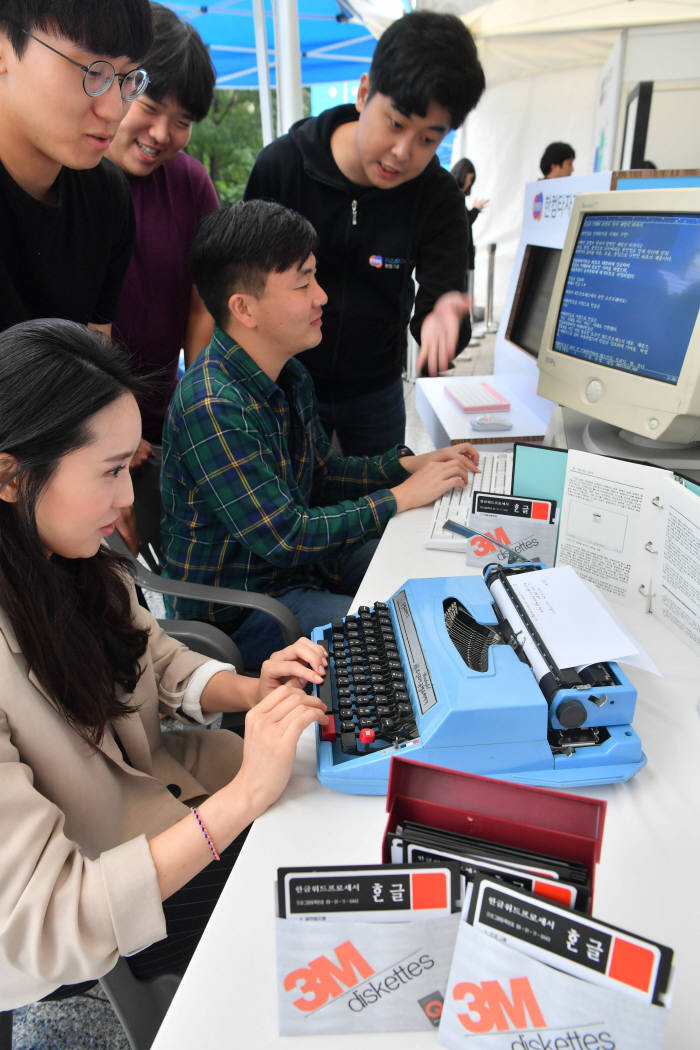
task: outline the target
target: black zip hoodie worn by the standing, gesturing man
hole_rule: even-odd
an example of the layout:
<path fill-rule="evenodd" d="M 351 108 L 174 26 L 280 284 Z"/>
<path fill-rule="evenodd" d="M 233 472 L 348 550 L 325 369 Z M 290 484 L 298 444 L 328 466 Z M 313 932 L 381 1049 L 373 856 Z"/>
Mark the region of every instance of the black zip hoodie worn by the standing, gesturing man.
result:
<path fill-rule="evenodd" d="M 420 342 L 436 300 L 465 288 L 467 218 L 457 183 L 436 158 L 395 189 L 352 183 L 333 159 L 331 135 L 357 118 L 347 105 L 298 121 L 258 154 L 246 188 L 247 201 L 294 208 L 319 235 L 317 277 L 328 296 L 323 338 L 300 359 L 321 401 L 393 383 L 405 366 L 413 298 L 410 328 Z M 465 321 L 460 345 L 468 338 Z"/>

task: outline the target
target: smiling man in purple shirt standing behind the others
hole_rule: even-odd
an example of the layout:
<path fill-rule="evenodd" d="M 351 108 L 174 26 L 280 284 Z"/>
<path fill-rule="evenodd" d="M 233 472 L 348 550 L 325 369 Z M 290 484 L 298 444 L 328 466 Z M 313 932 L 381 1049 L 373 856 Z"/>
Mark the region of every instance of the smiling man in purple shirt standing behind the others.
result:
<path fill-rule="evenodd" d="M 163 4 L 151 8 L 148 87 L 107 151 L 126 173 L 136 219 L 113 335 L 128 348 L 135 373 L 150 378 L 140 401 L 144 436 L 133 466 L 161 444 L 181 348 L 190 364 L 214 327 L 192 285 L 189 253 L 200 219 L 218 200 L 203 165 L 182 150 L 193 123 L 209 111 L 216 75 L 196 29 Z"/>

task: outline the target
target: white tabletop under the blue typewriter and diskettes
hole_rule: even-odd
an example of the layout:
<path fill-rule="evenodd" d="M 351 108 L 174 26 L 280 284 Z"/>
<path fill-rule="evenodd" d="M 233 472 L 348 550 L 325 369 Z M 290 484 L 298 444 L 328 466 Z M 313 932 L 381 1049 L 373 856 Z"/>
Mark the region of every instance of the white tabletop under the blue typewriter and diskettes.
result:
<path fill-rule="evenodd" d="M 409 576 L 460 575 L 461 555 L 427 551 L 430 509 L 389 523 L 355 601 L 387 598 Z M 624 621 L 663 678 L 627 668 L 639 691 L 635 728 L 648 765 L 624 784 L 580 790 L 608 812 L 594 914 L 676 952 L 677 981 L 666 1050 L 698 1045 L 700 990 L 700 674 L 698 659 L 658 621 Z M 358 1050 L 437 1048 L 433 1032 L 280 1037 L 275 992 L 278 866 L 375 863 L 385 824 L 383 798 L 343 795 L 315 776 L 313 732 L 302 738 L 280 801 L 257 820 L 201 938 L 152 1050 Z M 640 1048 L 643 1050 L 643 1048 Z"/>

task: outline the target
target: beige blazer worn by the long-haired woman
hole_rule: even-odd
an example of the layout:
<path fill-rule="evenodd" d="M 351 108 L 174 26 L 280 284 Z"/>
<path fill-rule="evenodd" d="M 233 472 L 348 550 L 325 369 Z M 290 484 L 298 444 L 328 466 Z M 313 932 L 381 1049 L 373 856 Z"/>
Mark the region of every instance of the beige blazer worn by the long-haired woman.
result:
<path fill-rule="evenodd" d="M 172 713 L 207 658 L 135 598 L 134 620 L 150 640 L 133 713 L 114 723 L 129 764 L 110 732 L 93 748 L 68 726 L 0 610 L 0 1009 L 101 976 L 165 937 L 147 839 L 240 764 L 233 733 L 161 732 L 158 707 Z"/>

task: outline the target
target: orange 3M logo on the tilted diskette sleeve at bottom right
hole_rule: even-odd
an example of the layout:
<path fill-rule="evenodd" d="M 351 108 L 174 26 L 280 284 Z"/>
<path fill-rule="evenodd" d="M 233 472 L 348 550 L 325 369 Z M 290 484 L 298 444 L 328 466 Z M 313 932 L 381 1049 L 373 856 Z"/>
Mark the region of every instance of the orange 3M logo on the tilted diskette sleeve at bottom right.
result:
<path fill-rule="evenodd" d="M 458 1017 L 469 1032 L 490 1032 L 493 1028 L 506 1032 L 509 1028 L 547 1026 L 527 978 L 511 979 L 510 998 L 497 981 L 482 981 L 479 985 L 462 981 L 454 985 L 452 999 L 465 1003 L 467 1013 L 458 1013 Z"/>

